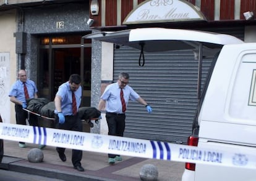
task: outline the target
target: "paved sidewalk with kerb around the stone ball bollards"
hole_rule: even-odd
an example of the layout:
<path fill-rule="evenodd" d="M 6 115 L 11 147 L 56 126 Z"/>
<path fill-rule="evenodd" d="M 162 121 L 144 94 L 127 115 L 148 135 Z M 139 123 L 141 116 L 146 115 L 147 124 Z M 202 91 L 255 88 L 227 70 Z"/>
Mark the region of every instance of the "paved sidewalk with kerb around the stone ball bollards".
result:
<path fill-rule="evenodd" d="M 71 150 L 66 149 L 67 161 L 62 162 L 54 147 L 45 147 L 42 163 L 30 163 L 28 151 L 38 145 L 26 144 L 19 148 L 18 142 L 4 140 L 4 158 L 0 169 L 7 169 L 27 174 L 43 175 L 62 180 L 140 180 L 140 169 L 144 164 L 153 164 L 158 168 L 158 181 L 180 181 L 184 163 L 158 159 L 135 158 L 122 156 L 123 161 L 114 165 L 108 164 L 108 156 L 103 153 L 83 151 L 82 166 L 84 172 L 75 170 L 71 163 Z"/>

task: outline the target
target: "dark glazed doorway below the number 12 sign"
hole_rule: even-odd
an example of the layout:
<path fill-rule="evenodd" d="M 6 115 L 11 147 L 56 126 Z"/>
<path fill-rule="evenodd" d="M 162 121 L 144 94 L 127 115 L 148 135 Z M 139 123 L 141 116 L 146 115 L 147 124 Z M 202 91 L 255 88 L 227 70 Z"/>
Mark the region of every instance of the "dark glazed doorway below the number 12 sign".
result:
<path fill-rule="evenodd" d="M 91 42 L 83 42 L 84 34 L 43 36 L 40 38 L 38 62 L 38 94 L 54 100 L 58 87 L 70 74 L 80 74 L 83 87 L 83 107 L 90 106 Z"/>

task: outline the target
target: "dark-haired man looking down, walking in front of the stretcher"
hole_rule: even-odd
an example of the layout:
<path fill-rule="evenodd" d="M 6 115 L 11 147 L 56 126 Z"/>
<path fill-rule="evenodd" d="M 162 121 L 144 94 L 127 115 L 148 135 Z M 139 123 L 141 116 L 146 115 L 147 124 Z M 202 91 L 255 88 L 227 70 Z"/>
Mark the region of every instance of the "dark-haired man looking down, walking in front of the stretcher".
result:
<path fill-rule="evenodd" d="M 69 81 L 59 86 L 54 99 L 56 128 L 82 132 L 82 120 L 77 113 L 82 98 L 82 87 L 80 85 L 81 78 L 79 74 L 72 74 L 69 77 Z M 62 161 L 66 161 L 64 153 L 66 148 L 57 147 L 56 150 L 59 153 L 59 158 Z M 81 166 L 82 153 L 82 150 L 72 150 L 73 166 L 81 172 L 84 171 Z"/>

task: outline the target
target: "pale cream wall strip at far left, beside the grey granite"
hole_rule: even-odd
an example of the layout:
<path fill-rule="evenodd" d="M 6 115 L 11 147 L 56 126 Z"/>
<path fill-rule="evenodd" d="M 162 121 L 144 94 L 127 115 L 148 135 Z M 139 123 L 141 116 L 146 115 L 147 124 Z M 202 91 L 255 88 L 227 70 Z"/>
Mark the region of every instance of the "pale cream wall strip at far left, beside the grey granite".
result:
<path fill-rule="evenodd" d="M 16 10 L 6 10 L 0 12 L 0 114 L 4 123 L 12 122 L 11 115 L 14 115 L 14 109 L 10 108 L 10 100 L 8 97 L 11 82 L 14 82 L 16 76 L 16 59 L 15 54 L 15 38 L 16 32 Z M 14 122 L 15 123 L 15 122 Z"/>

